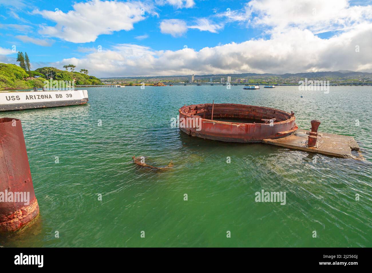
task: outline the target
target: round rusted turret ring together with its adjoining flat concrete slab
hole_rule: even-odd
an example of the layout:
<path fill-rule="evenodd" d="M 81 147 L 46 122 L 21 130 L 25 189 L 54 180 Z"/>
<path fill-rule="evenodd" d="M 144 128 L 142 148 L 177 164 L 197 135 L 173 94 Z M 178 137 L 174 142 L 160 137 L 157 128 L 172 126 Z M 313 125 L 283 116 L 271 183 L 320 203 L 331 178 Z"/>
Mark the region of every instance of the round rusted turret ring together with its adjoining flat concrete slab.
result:
<path fill-rule="evenodd" d="M 298 129 L 295 113 L 244 104 L 195 104 L 179 109 L 181 131 L 203 139 L 225 142 L 262 142 L 339 157 L 356 157 L 359 146 L 350 136 L 318 133 L 319 120 L 310 131 Z"/>

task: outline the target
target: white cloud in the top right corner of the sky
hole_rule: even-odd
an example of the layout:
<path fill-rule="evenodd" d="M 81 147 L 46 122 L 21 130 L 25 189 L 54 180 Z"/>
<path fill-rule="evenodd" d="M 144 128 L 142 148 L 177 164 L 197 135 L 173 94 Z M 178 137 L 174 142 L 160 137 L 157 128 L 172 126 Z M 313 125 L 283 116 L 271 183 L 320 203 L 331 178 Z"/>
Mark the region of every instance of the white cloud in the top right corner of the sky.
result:
<path fill-rule="evenodd" d="M 254 25 L 276 31 L 299 27 L 322 33 L 371 20 L 372 6 L 350 6 L 347 0 L 253 0 L 246 6 L 246 16 Z"/>

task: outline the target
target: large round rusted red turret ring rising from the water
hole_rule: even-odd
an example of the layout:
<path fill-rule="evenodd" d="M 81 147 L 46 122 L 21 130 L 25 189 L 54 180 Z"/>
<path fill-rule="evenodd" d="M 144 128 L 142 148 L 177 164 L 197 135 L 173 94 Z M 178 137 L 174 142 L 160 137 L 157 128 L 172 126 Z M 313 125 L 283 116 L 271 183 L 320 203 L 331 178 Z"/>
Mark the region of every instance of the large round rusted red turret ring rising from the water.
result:
<path fill-rule="evenodd" d="M 196 104 L 179 110 L 186 124 L 200 118 L 200 130 L 184 127 L 180 130 L 192 136 L 227 142 L 262 142 L 288 136 L 298 129 L 295 116 L 274 108 L 244 104 Z M 229 121 L 229 120 L 239 120 Z"/>

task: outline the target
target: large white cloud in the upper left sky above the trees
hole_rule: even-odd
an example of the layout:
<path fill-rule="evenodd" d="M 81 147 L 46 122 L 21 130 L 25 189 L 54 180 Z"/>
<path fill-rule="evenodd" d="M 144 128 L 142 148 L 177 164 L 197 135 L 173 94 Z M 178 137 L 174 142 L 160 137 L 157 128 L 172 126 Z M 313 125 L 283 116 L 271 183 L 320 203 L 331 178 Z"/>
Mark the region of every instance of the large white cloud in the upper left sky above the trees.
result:
<path fill-rule="evenodd" d="M 73 43 L 94 42 L 101 34 L 114 31 L 131 30 L 133 24 L 145 19 L 145 14 L 156 14 L 149 2 L 118 2 L 92 0 L 75 3 L 73 10 L 34 10 L 44 18 L 57 23 L 55 26 L 43 26 L 41 34 L 58 37 Z"/>

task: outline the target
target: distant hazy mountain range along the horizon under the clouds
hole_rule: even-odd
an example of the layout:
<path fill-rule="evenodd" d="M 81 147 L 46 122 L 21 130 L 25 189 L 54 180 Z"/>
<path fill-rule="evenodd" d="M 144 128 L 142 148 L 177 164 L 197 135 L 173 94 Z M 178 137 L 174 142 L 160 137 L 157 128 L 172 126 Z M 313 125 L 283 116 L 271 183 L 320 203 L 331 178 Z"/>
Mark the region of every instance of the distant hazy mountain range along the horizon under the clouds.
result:
<path fill-rule="evenodd" d="M 189 75 L 173 75 L 173 76 L 149 76 L 149 77 L 109 77 L 109 78 L 100 78 L 100 79 L 128 79 L 128 78 L 176 78 L 176 77 L 188 77 Z M 346 77 L 353 77 L 353 76 L 367 76 L 372 77 L 372 73 L 367 72 L 355 72 L 350 70 L 339 70 L 339 71 L 323 71 L 323 72 L 303 72 L 303 73 L 286 73 L 286 74 L 257 74 L 257 73 L 241 73 L 241 74 L 208 74 L 208 75 L 195 75 L 195 78 L 220 78 L 220 77 L 232 77 L 232 78 L 246 78 L 252 76 L 274 76 L 274 77 L 281 77 L 281 78 L 290 78 L 290 77 L 297 77 L 297 78 L 324 78 L 324 77 L 339 77 L 339 78 L 346 78 Z"/>

